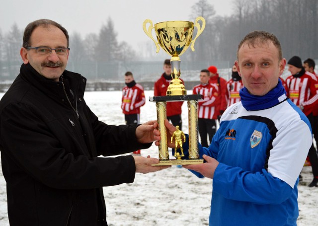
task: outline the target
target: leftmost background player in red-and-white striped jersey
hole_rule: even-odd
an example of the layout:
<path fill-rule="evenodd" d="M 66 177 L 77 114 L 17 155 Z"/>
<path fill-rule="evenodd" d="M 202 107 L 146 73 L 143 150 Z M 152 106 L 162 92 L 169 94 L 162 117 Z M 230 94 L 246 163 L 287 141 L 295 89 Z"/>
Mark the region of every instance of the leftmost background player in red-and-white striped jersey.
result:
<path fill-rule="evenodd" d="M 138 125 L 140 123 L 140 107 L 146 103 L 144 88 L 136 83 L 131 72 L 126 72 L 125 84 L 121 99 L 121 109 L 125 115 L 125 122 L 126 125 Z M 140 154 L 140 150 L 133 153 Z"/>

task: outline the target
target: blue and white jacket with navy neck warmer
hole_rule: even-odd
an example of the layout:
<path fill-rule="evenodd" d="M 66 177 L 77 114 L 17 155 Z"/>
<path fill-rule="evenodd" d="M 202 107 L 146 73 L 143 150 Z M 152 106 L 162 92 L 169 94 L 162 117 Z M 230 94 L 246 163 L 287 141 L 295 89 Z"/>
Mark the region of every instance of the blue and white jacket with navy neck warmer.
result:
<path fill-rule="evenodd" d="M 297 225 L 298 177 L 313 140 L 307 117 L 283 89 L 280 81 L 265 96 L 241 89 L 241 102 L 224 112 L 212 144 L 200 149 L 220 162 L 211 226 Z"/>

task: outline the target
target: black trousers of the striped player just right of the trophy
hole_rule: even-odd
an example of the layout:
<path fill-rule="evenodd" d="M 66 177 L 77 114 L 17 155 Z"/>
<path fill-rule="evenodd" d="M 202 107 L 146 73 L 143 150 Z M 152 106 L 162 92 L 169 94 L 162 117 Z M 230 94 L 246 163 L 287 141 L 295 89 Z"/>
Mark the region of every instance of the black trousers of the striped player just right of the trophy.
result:
<path fill-rule="evenodd" d="M 202 147 L 209 147 L 208 145 L 208 135 L 209 141 L 211 144 L 212 138 L 216 133 L 216 123 L 214 119 L 200 119 L 198 121 L 199 126 L 199 134 L 201 138 Z"/>

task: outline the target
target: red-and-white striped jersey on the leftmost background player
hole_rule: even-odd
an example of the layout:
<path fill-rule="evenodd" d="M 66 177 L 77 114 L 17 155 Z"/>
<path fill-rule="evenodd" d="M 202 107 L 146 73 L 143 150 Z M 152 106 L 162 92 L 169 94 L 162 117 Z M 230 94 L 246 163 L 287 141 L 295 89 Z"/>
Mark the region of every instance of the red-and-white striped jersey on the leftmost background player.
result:
<path fill-rule="evenodd" d="M 127 85 L 123 88 L 121 109 L 125 115 L 140 114 L 140 107 L 145 103 L 143 86 L 136 84 L 131 88 Z"/>

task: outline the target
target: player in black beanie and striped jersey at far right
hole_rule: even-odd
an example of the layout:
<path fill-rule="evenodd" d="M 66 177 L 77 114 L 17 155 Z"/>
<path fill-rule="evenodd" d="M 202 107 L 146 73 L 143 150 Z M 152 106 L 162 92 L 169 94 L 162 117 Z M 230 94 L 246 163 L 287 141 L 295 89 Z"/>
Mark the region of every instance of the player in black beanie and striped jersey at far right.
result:
<path fill-rule="evenodd" d="M 318 107 L 318 79 L 316 75 L 306 72 L 302 60 L 298 56 L 292 57 L 288 61 L 288 71 L 292 75 L 286 78 L 286 84 L 289 89 L 289 98 L 296 104 L 308 117 L 313 133 L 317 133 L 314 122 L 314 111 Z M 318 155 L 312 144 L 308 152 L 312 165 L 314 179 L 309 184 L 310 187 L 318 186 Z"/>

